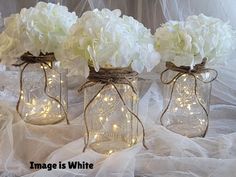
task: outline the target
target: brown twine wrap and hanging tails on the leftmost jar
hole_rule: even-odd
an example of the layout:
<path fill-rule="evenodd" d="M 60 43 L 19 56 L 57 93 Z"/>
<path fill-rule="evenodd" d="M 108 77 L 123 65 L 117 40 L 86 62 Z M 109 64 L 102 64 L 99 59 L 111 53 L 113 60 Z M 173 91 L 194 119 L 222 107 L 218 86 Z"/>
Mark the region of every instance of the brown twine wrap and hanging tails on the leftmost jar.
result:
<path fill-rule="evenodd" d="M 62 108 L 63 112 L 64 112 L 64 115 L 65 115 L 65 118 L 66 118 L 66 122 L 67 124 L 69 124 L 69 120 L 68 120 L 68 117 L 67 117 L 67 112 L 63 106 L 63 104 L 61 103 L 61 101 L 59 101 L 57 98 L 49 95 L 47 93 L 47 87 L 48 87 L 48 79 L 47 79 L 47 72 L 44 68 L 44 65 L 48 66 L 48 68 L 52 69 L 52 63 L 53 61 L 55 61 L 55 57 L 54 57 L 54 54 L 53 53 L 47 53 L 47 54 L 43 54 L 43 53 L 40 53 L 39 56 L 35 57 L 33 56 L 31 53 L 27 52 L 25 53 L 24 55 L 22 55 L 20 57 L 22 63 L 20 64 L 13 64 L 13 66 L 16 66 L 16 67 L 21 67 L 23 66 L 21 72 L 20 72 L 20 96 L 18 98 L 18 101 L 17 101 L 17 104 L 16 104 L 16 110 L 18 112 L 18 114 L 20 115 L 20 117 L 22 118 L 22 115 L 19 111 L 19 107 L 20 107 L 20 103 L 21 103 L 21 98 L 22 98 L 22 94 L 23 94 L 23 73 L 25 71 L 25 69 L 27 68 L 27 66 L 29 66 L 30 64 L 40 64 L 42 70 L 43 70 L 43 73 L 44 73 L 44 94 L 47 95 L 47 97 L 53 99 L 54 101 L 56 101 L 60 107 Z"/>

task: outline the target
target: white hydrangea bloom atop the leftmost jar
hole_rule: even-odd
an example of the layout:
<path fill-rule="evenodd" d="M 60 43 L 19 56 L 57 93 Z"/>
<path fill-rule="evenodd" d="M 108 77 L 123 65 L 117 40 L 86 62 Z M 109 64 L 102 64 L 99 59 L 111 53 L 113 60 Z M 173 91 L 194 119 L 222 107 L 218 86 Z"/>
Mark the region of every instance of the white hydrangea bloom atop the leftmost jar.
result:
<path fill-rule="evenodd" d="M 0 34 L 2 63 L 13 64 L 25 52 L 34 56 L 53 52 L 57 57 L 77 19 L 67 7 L 45 2 L 5 18 L 5 29 Z"/>

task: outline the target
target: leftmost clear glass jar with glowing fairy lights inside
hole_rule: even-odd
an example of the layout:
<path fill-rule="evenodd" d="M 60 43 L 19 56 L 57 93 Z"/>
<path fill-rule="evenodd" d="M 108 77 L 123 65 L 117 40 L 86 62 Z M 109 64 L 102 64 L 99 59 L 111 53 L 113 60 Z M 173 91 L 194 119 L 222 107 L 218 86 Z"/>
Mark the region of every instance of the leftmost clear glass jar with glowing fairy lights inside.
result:
<path fill-rule="evenodd" d="M 18 101 L 23 120 L 35 125 L 64 120 L 67 116 L 67 71 L 56 62 L 30 63 L 24 67 L 21 66 L 22 88 Z"/>

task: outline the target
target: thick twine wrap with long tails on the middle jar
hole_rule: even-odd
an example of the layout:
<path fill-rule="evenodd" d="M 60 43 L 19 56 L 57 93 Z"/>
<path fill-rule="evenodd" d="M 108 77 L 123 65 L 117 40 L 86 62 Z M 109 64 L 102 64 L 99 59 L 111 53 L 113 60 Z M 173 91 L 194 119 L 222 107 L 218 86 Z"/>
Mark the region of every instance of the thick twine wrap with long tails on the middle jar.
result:
<path fill-rule="evenodd" d="M 87 111 L 89 106 L 93 103 L 93 101 L 95 100 L 95 98 L 108 86 L 113 86 L 116 93 L 118 94 L 121 102 L 123 103 L 123 105 L 126 107 L 126 109 L 129 111 L 129 113 L 131 113 L 140 123 L 140 125 L 142 126 L 142 130 L 143 130 L 143 139 L 142 139 L 142 143 L 143 146 L 147 148 L 146 144 L 145 144 L 145 129 L 144 129 L 144 125 L 142 123 L 142 121 L 140 120 L 140 118 L 126 105 L 124 98 L 122 97 L 119 89 L 117 88 L 117 84 L 125 84 L 130 86 L 130 88 L 132 89 L 132 92 L 134 94 L 137 95 L 137 92 L 132 84 L 132 81 L 137 78 L 137 73 L 134 71 L 130 71 L 129 68 L 113 68 L 113 69 L 106 69 L 106 68 L 100 68 L 99 72 L 96 72 L 94 70 L 93 67 L 90 67 L 90 74 L 88 77 L 88 81 L 85 82 L 80 89 L 78 90 L 78 92 L 81 92 L 82 90 L 88 88 L 88 87 L 92 87 L 96 84 L 102 84 L 102 87 L 100 88 L 100 90 L 98 90 L 97 93 L 95 93 L 95 95 L 92 97 L 92 99 L 87 103 L 87 105 L 84 108 L 84 123 L 85 123 L 85 128 L 86 128 L 86 137 L 84 138 L 84 148 L 83 148 L 83 152 L 85 152 L 85 150 L 88 147 L 89 144 L 89 129 L 88 129 L 88 123 L 87 123 Z"/>

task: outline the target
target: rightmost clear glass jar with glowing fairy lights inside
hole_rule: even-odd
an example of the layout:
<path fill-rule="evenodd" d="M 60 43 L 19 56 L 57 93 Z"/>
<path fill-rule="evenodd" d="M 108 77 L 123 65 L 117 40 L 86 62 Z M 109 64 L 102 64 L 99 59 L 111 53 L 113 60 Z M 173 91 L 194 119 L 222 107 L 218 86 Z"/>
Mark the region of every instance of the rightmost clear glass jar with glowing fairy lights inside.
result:
<path fill-rule="evenodd" d="M 163 78 L 170 82 L 164 87 L 164 111 L 161 124 L 167 129 L 187 136 L 204 137 L 208 129 L 208 114 L 211 95 L 212 75 L 181 74 L 168 71 Z"/>

